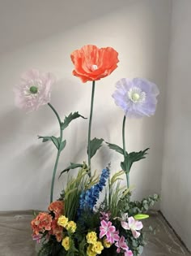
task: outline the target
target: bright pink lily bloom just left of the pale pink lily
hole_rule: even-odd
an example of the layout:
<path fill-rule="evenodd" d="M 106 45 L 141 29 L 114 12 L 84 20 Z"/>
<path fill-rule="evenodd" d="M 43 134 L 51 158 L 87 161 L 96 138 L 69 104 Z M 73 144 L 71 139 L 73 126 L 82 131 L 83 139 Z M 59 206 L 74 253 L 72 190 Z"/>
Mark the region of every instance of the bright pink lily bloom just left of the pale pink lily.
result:
<path fill-rule="evenodd" d="M 100 226 L 100 238 L 107 237 L 107 241 L 113 244 L 115 241 L 119 241 L 119 232 L 116 231 L 116 227 L 112 226 L 111 221 L 106 222 L 104 219 L 101 221 Z"/>

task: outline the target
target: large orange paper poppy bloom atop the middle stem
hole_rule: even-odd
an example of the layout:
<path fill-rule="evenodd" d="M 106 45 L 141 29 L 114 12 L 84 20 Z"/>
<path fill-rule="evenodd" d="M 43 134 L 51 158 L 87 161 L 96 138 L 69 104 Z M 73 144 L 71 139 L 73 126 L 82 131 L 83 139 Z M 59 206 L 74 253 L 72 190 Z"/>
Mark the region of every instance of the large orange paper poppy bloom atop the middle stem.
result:
<path fill-rule="evenodd" d="M 74 50 L 70 57 L 74 63 L 73 75 L 78 76 L 83 83 L 110 75 L 119 62 L 118 53 L 112 47 L 99 49 L 87 45 Z"/>

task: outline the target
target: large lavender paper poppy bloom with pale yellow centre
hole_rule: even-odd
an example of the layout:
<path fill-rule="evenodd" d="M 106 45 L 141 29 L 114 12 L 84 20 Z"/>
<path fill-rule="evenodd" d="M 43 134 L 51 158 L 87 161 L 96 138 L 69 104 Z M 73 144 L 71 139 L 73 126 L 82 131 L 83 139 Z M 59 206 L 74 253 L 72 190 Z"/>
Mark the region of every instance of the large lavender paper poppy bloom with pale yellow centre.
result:
<path fill-rule="evenodd" d="M 127 117 L 142 117 L 155 114 L 159 89 L 150 81 L 142 78 L 117 81 L 117 90 L 112 94 L 117 106 L 120 106 Z"/>

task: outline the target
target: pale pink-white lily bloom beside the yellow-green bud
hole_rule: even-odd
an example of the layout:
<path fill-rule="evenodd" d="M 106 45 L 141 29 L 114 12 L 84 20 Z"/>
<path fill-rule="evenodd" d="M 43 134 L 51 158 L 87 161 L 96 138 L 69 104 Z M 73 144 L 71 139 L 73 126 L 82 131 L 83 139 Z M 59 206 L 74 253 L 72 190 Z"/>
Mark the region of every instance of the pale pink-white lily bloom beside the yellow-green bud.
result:
<path fill-rule="evenodd" d="M 124 229 L 131 230 L 134 238 L 138 238 L 138 236 L 141 235 L 141 233 L 137 232 L 137 230 L 141 230 L 143 228 L 142 222 L 135 220 L 134 217 L 129 217 L 128 223 L 125 221 L 121 221 L 121 226 Z"/>

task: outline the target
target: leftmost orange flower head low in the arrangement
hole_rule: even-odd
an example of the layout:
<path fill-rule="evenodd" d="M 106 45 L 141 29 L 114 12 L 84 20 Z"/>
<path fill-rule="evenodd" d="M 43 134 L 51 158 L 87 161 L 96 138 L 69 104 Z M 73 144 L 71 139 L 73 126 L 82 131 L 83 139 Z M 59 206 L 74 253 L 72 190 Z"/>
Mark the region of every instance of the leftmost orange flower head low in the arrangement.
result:
<path fill-rule="evenodd" d="M 40 212 L 31 222 L 33 234 L 39 235 L 39 232 L 49 231 L 51 229 L 52 220 L 51 215 L 46 212 Z"/>

